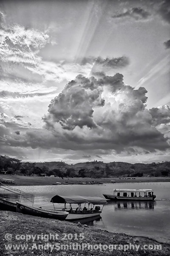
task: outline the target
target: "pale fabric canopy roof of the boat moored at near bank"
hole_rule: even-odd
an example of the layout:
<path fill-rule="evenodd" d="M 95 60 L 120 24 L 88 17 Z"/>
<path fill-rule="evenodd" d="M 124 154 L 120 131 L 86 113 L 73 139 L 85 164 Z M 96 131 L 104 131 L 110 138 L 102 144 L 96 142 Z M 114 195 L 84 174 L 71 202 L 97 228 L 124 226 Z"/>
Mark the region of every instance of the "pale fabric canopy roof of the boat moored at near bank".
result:
<path fill-rule="evenodd" d="M 107 204 L 107 201 L 104 198 L 100 197 L 82 197 L 79 195 L 74 196 L 65 196 L 65 195 L 55 195 L 51 198 L 52 203 L 68 203 L 68 204 Z"/>

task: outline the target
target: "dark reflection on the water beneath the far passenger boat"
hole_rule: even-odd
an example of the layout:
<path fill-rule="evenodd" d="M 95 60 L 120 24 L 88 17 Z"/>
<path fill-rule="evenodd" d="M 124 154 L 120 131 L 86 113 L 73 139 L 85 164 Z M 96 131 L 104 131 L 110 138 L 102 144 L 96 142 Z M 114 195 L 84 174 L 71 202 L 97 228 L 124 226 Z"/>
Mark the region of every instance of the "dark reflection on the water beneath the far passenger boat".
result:
<path fill-rule="evenodd" d="M 108 204 L 113 204 L 115 210 L 123 209 L 154 209 L 156 202 L 154 201 L 107 201 Z"/>

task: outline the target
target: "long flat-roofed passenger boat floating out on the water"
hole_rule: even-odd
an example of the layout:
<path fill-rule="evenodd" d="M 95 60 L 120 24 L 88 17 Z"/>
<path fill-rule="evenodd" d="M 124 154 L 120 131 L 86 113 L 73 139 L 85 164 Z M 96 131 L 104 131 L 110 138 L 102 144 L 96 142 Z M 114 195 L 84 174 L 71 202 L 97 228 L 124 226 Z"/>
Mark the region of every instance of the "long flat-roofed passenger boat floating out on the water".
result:
<path fill-rule="evenodd" d="M 152 189 L 113 189 L 113 195 L 103 194 L 109 200 L 154 200 Z"/>

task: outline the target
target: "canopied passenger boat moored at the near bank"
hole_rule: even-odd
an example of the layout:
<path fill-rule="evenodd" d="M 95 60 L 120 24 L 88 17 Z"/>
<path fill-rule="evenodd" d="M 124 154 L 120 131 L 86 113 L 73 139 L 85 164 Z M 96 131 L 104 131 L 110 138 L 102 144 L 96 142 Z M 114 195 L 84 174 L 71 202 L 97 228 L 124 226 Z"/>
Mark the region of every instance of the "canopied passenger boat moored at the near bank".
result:
<path fill-rule="evenodd" d="M 104 198 L 100 197 L 82 197 L 82 196 L 65 196 L 65 195 L 55 195 L 51 198 L 51 202 L 54 204 L 64 204 L 63 211 L 67 211 L 69 214 L 66 217 L 67 220 L 78 220 L 83 218 L 90 218 L 94 216 L 99 216 L 102 212 L 102 209 L 107 201 Z M 66 208 L 66 204 L 69 204 L 69 208 Z M 78 205 L 75 209 L 72 208 L 72 204 Z M 82 209 L 81 204 L 85 204 Z M 88 208 L 86 208 L 86 204 Z M 100 206 L 102 205 L 102 209 Z M 58 209 L 55 208 L 54 209 Z M 62 211 L 60 209 L 60 211 Z"/>

